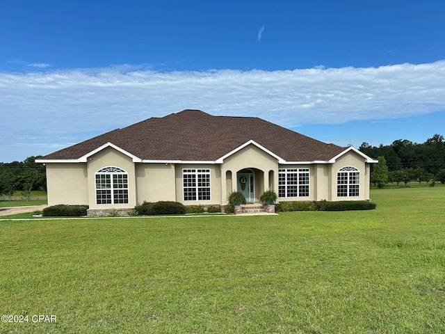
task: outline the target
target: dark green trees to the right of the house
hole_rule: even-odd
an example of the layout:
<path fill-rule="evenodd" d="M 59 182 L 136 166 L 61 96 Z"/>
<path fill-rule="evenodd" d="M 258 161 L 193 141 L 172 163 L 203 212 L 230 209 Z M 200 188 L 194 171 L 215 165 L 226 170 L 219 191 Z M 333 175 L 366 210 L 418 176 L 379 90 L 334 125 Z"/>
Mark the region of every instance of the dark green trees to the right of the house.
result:
<path fill-rule="evenodd" d="M 445 139 L 440 134 L 428 138 L 425 143 L 413 143 L 406 139 L 398 139 L 391 145 L 380 144 L 378 147 L 362 143 L 359 150 L 374 159 L 384 157 L 388 182 L 407 184 L 416 181 L 434 184 L 433 182 L 439 181 L 445 184 Z M 379 174 L 371 175 L 371 182 L 377 185 L 381 185 L 378 180 L 380 166 L 373 166 L 373 172 L 377 167 Z"/>

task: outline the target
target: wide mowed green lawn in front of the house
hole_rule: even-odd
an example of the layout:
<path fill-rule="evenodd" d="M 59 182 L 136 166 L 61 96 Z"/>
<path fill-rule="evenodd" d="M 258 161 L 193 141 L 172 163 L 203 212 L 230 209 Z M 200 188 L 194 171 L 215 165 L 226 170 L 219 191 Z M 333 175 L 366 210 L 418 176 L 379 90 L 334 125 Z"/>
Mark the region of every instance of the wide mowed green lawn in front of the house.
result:
<path fill-rule="evenodd" d="M 366 212 L 0 221 L 0 333 L 445 333 L 445 187 Z M 32 323 L 31 315 L 56 315 Z"/>

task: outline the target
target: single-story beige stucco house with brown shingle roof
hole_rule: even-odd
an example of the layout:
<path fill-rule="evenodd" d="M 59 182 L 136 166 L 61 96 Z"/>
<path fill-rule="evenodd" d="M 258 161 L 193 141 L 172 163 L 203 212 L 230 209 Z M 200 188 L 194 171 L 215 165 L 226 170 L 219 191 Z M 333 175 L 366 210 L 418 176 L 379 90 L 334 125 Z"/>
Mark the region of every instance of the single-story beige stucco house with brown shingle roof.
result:
<path fill-rule="evenodd" d="M 369 200 L 371 164 L 266 120 L 184 110 L 149 118 L 41 157 L 48 204 L 131 209 L 169 200 L 227 205 L 274 190 L 279 201 Z"/>

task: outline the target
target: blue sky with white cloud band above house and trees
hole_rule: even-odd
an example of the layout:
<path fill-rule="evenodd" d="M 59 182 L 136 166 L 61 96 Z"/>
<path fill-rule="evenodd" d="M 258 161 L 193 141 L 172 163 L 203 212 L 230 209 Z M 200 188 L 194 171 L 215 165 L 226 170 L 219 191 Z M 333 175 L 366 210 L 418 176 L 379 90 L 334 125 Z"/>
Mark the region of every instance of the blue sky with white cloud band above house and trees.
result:
<path fill-rule="evenodd" d="M 327 143 L 444 134 L 444 1 L 0 1 L 0 161 L 183 109 Z"/>

